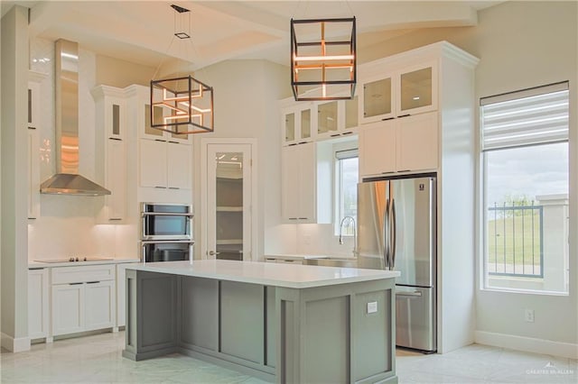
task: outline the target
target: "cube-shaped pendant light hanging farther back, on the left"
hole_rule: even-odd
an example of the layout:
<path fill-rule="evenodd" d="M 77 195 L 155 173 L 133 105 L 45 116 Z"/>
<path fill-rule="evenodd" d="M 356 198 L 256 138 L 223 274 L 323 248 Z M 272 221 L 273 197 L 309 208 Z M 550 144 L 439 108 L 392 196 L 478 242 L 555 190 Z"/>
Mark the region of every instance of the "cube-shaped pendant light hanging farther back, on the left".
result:
<path fill-rule="evenodd" d="M 179 5 L 171 7 L 175 11 L 172 41 L 191 39 L 191 12 Z M 151 80 L 151 127 L 191 134 L 213 132 L 213 124 L 212 87 L 191 75 Z"/>

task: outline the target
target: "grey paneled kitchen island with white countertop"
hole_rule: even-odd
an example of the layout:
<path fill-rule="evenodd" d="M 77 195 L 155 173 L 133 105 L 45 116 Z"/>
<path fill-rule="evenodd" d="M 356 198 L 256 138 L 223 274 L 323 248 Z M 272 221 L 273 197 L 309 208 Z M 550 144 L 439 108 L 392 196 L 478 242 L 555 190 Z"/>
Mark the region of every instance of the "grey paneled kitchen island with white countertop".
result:
<path fill-rule="evenodd" d="M 123 356 L 181 352 L 282 383 L 395 383 L 396 276 L 247 261 L 131 265 Z"/>

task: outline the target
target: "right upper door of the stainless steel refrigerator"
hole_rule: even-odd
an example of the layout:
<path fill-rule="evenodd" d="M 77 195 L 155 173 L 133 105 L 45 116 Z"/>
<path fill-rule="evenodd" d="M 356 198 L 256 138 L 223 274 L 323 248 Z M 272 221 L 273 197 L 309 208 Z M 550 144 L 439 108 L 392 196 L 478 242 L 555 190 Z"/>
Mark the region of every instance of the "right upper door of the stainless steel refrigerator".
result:
<path fill-rule="evenodd" d="M 435 178 L 391 180 L 390 228 L 396 284 L 433 287 L 435 282 Z"/>

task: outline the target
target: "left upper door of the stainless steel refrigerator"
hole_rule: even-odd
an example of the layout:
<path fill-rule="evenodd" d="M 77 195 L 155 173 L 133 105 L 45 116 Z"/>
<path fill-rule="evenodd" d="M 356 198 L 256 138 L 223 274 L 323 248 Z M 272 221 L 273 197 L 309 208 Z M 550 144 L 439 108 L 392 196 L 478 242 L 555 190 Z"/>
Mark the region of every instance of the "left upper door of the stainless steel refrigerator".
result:
<path fill-rule="evenodd" d="M 358 268 L 387 269 L 387 190 L 389 181 L 358 185 Z"/>

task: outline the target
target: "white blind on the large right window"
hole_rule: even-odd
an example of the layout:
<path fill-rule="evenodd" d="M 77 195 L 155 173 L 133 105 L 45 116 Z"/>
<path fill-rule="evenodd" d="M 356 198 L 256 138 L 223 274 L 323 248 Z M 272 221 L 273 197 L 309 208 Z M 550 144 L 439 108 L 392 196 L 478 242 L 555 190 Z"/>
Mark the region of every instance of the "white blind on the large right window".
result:
<path fill-rule="evenodd" d="M 568 140 L 568 82 L 480 99 L 481 150 Z"/>

